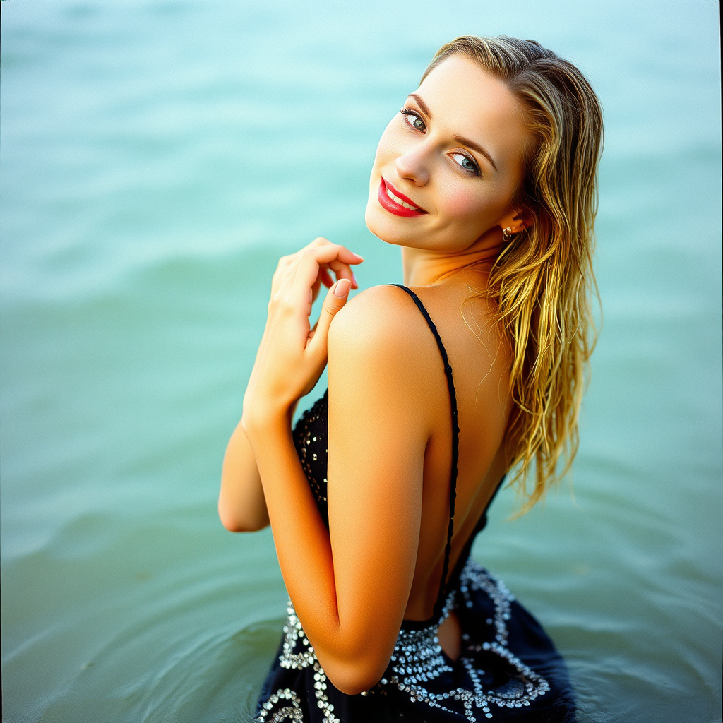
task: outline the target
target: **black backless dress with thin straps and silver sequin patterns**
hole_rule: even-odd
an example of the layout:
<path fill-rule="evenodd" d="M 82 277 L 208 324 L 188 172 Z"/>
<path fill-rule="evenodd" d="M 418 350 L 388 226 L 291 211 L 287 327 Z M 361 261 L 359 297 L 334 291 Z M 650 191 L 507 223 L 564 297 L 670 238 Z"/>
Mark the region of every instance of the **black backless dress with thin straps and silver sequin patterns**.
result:
<path fill-rule="evenodd" d="M 254 721 L 572 723 L 576 720 L 573 692 L 565 662 L 554 644 L 505 583 L 469 557 L 476 534 L 487 523 L 487 509 L 444 584 L 453 534 L 459 443 L 452 368 L 422 301 L 406 286 L 395 286 L 414 299 L 435 335 L 452 408 L 450 524 L 434 613 L 429 620 L 404 620 L 382 679 L 364 693 L 348 696 L 326 677 L 289 602 L 281 645 L 263 685 Z M 328 390 L 294 428 L 301 466 L 328 526 L 327 439 Z M 462 628 L 461 653 L 454 661 L 437 638 L 437 629 L 451 611 Z"/>

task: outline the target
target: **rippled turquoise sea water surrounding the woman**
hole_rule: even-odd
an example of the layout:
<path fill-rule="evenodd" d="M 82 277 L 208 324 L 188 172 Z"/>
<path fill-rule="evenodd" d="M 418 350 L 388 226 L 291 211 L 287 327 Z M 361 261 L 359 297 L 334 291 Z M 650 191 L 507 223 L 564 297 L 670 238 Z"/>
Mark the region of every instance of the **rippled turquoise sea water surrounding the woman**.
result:
<path fill-rule="evenodd" d="M 474 549 L 565 654 L 581 721 L 719 720 L 719 5 L 4 0 L 3 721 L 246 721 L 286 596 L 215 513 L 281 254 L 364 226 L 435 49 L 541 40 L 606 112 L 604 326 L 574 469 Z M 323 382 L 320 382 L 322 384 Z M 320 393 L 304 400 L 309 406 Z"/>

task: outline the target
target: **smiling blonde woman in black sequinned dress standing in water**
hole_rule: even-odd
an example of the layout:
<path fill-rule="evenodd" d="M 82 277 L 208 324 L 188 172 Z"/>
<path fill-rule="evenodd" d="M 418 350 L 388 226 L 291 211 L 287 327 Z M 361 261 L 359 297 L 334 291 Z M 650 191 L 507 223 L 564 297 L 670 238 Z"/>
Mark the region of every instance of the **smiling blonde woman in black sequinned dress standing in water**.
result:
<path fill-rule="evenodd" d="M 363 259 L 325 239 L 279 262 L 218 505 L 270 523 L 290 597 L 257 720 L 574 719 L 552 641 L 469 551 L 508 471 L 527 509 L 576 452 L 601 147 L 576 67 L 458 38 L 372 168 L 367 226 L 406 286 L 345 305 Z"/>

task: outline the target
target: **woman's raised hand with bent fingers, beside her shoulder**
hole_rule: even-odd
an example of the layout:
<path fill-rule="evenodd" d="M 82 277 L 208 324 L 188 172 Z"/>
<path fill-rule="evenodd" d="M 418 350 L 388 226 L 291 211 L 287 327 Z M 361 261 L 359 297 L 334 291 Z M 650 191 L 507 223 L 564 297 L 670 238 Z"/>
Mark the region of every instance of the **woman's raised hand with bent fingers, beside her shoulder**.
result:
<path fill-rule="evenodd" d="M 244 431 L 286 419 L 316 385 L 327 361 L 331 320 L 354 283 L 351 264 L 364 259 L 339 244 L 315 239 L 282 257 L 273 275 L 266 328 L 244 395 Z M 337 276 L 331 283 L 330 270 Z M 353 281 L 354 280 L 354 281 Z M 320 284 L 330 286 L 315 328 L 309 316 Z M 354 283 L 356 286 L 356 283 Z"/>

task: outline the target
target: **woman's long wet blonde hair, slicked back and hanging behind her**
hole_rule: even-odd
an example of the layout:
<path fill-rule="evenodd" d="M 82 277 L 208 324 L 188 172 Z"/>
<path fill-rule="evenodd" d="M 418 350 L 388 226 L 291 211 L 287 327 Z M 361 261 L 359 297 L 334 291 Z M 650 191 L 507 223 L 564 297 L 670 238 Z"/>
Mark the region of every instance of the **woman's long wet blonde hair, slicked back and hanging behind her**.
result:
<path fill-rule="evenodd" d="M 599 299 L 592 257 L 602 108 L 572 63 L 534 40 L 506 35 L 455 38 L 422 80 L 455 54 L 505 82 L 525 109 L 532 141 L 514 203 L 533 223 L 503 247 L 484 292 L 495 299 L 495 321 L 513 350 L 505 448 L 523 513 L 567 474 L 578 450 L 596 341 L 593 292 Z"/>

